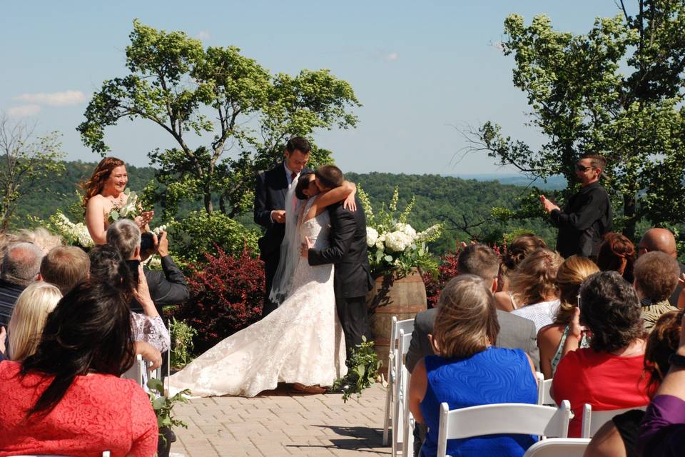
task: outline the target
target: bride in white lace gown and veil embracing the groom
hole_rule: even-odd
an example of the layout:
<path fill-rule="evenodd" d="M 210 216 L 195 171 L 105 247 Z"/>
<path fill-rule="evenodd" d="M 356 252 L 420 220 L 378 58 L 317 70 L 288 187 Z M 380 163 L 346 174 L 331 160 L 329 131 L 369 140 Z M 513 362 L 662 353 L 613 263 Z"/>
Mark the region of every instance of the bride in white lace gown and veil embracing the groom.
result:
<path fill-rule="evenodd" d="M 280 382 L 331 386 L 347 373 L 333 264 L 310 266 L 299 251 L 306 238 L 316 248 L 328 247 L 330 219 L 325 209 L 345 200 L 345 207 L 355 211 L 356 187 L 345 181 L 319 192 L 314 179 L 313 173 L 301 174 L 285 198 L 286 234 L 276 272 L 279 281 L 271 292 L 272 298 L 285 301 L 171 376 L 172 393 L 189 388 L 193 396 L 252 397 Z"/>

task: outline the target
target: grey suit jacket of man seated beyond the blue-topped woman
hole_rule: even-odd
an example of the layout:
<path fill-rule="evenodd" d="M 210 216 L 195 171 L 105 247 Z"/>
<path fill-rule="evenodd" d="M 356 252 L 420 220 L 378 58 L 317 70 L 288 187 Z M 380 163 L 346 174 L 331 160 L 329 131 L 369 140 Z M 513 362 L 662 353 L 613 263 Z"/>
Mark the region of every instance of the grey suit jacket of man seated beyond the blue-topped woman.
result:
<path fill-rule="evenodd" d="M 421 311 L 414 318 L 414 332 L 407 352 L 407 369 L 412 372 L 416 364 L 425 356 L 433 355 L 433 348 L 428 341 L 428 333 L 433 333 L 433 324 L 437 308 Z M 514 316 L 507 311 L 497 310 L 499 335 L 495 346 L 509 349 L 523 349 L 533 359 L 535 369 L 539 370 L 540 354 L 537 348 L 535 324 L 526 318 Z"/>

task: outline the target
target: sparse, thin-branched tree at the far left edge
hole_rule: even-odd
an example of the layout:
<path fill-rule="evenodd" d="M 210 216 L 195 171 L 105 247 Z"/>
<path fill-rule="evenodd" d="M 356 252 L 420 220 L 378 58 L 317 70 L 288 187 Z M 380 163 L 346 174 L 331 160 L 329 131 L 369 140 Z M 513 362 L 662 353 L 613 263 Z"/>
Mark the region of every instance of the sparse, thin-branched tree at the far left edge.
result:
<path fill-rule="evenodd" d="M 59 134 L 36 136 L 34 128 L 0 114 L 0 232 L 23 199 L 64 172 Z"/>

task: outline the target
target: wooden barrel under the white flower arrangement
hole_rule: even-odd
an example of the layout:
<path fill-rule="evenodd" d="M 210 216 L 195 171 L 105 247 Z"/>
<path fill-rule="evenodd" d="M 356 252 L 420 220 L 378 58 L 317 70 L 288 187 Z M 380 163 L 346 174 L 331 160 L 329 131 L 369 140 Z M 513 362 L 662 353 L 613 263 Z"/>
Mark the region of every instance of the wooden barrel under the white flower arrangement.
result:
<path fill-rule="evenodd" d="M 397 321 L 414 318 L 416 313 L 427 309 L 426 287 L 419 273 L 404 278 L 380 276 L 366 297 L 372 338 L 381 372 L 387 373 L 387 355 L 390 352 L 390 328 L 392 316 Z"/>

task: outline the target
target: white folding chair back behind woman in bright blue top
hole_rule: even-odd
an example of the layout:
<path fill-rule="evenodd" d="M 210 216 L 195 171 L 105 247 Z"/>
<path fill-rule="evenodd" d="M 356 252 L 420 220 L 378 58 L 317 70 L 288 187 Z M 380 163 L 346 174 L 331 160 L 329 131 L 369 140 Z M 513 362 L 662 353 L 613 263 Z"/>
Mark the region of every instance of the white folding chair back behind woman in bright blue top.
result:
<path fill-rule="evenodd" d="M 499 433 L 567 438 L 571 420 L 571 403 L 562 406 L 498 403 L 471 406 L 450 411 L 447 403 L 440 405 L 440 428 L 437 457 L 445 457 L 447 440 Z"/>

